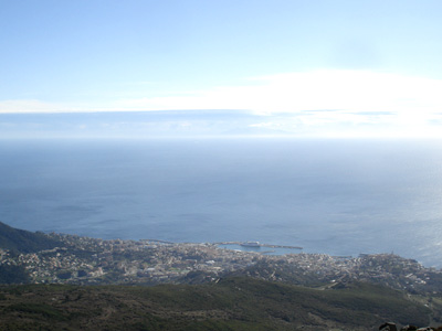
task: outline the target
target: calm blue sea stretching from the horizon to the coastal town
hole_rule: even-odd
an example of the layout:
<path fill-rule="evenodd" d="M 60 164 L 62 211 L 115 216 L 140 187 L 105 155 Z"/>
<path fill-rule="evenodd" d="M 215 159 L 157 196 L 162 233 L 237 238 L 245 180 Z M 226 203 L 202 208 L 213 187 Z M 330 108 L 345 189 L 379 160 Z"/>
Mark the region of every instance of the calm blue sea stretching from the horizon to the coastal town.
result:
<path fill-rule="evenodd" d="M 2 140 L 0 221 L 101 238 L 393 252 L 442 267 L 442 145 Z"/>

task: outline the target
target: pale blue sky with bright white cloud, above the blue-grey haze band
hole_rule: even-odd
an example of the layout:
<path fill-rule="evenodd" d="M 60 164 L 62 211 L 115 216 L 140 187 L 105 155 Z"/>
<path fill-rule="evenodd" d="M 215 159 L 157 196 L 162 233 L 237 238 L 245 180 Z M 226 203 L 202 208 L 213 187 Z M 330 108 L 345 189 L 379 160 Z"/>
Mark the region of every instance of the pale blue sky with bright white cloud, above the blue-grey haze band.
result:
<path fill-rule="evenodd" d="M 0 128 L 10 114 L 213 109 L 287 135 L 442 137 L 441 12 L 439 0 L 0 0 Z"/>

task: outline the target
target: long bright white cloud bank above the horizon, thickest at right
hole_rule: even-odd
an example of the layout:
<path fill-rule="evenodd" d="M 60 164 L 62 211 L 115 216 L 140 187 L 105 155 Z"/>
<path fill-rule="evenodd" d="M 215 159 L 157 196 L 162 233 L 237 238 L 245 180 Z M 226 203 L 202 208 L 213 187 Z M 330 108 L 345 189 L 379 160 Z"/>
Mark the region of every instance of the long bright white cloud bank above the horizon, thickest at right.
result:
<path fill-rule="evenodd" d="M 343 126 L 375 130 L 377 126 L 388 135 L 442 134 L 441 127 L 434 125 L 441 119 L 442 81 L 369 71 L 314 71 L 252 77 L 248 82 L 242 86 L 84 105 L 7 100 L 0 102 L 0 113 L 249 109 L 269 117 L 295 115 L 296 125 L 292 127 L 313 131 L 316 128 L 332 132 Z M 326 109 L 330 111 L 316 111 Z M 272 127 L 284 125 L 269 119 L 257 126 L 265 122 L 272 122 Z"/>

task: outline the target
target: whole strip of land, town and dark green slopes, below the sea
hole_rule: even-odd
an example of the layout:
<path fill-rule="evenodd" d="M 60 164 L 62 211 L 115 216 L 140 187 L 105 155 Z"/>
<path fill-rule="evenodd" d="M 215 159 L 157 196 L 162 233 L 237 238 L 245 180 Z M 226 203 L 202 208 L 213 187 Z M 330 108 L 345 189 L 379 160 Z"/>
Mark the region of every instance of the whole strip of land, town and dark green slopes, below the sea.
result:
<path fill-rule="evenodd" d="M 207 244 L 44 235 L 2 223 L 0 245 L 1 330 L 308 331 L 442 322 L 442 273 L 394 255 L 272 257 Z"/>

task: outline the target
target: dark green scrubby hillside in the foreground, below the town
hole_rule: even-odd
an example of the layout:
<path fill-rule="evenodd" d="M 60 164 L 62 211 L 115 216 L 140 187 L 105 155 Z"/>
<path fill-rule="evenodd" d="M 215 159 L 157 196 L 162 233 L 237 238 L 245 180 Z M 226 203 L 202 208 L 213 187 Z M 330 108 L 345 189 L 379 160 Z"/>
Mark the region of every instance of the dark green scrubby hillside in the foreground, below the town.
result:
<path fill-rule="evenodd" d="M 376 330 L 387 320 L 425 325 L 430 310 L 367 284 L 320 290 L 227 278 L 198 286 L 0 287 L 0 312 L 3 330 Z"/>

